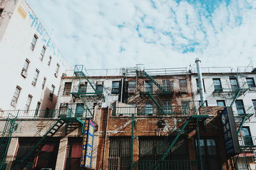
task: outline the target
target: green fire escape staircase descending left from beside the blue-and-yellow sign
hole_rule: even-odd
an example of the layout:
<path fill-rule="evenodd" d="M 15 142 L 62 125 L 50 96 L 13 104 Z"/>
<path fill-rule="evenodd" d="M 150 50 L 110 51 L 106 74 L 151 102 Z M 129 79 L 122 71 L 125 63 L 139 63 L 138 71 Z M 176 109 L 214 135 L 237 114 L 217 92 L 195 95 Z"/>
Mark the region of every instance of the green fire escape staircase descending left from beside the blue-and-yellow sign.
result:
<path fill-rule="evenodd" d="M 15 166 L 12 169 L 17 169 L 19 167 L 32 167 L 33 166 L 33 160 L 35 159 L 35 156 L 40 153 L 40 150 L 42 147 L 47 143 L 47 141 L 56 134 L 56 132 L 59 131 L 59 129 L 64 124 L 73 124 L 73 123 L 81 123 L 84 127 L 84 122 L 76 117 L 65 117 L 65 118 L 59 118 L 51 127 L 50 129 L 45 132 L 44 136 L 40 138 L 40 140 L 29 150 L 24 157 L 20 160 L 15 160 Z M 83 128 L 82 128 L 83 129 Z"/>

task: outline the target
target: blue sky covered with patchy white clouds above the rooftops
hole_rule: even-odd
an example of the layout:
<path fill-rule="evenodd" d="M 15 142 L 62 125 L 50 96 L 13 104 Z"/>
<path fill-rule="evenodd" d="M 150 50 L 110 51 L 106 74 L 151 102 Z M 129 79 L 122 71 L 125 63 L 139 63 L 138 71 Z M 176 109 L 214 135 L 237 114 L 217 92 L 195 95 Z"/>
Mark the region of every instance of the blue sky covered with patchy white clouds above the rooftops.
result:
<path fill-rule="evenodd" d="M 62 55 L 92 68 L 256 65 L 255 0 L 28 0 Z"/>

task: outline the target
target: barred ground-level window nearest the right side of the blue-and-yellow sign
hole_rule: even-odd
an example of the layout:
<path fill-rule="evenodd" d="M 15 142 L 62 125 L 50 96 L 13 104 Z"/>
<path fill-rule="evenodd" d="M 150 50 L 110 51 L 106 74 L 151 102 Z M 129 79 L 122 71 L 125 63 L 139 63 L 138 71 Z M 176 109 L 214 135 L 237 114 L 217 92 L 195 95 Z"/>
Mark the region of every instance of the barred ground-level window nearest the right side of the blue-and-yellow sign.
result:
<path fill-rule="evenodd" d="M 108 169 L 129 169 L 131 165 L 131 138 L 109 138 Z"/>

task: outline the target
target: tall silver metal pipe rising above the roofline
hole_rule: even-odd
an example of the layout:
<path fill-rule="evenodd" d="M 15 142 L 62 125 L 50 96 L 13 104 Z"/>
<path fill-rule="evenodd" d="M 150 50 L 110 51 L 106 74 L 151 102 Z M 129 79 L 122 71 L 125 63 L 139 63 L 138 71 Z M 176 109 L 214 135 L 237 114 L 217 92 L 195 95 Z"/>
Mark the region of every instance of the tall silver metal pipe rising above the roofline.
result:
<path fill-rule="evenodd" d="M 200 92 L 200 106 L 205 106 L 205 97 L 204 97 L 204 84 L 203 84 L 203 77 L 201 72 L 200 63 L 201 60 L 196 58 L 196 71 L 198 76 L 198 85 L 199 85 L 199 92 Z M 199 112 L 198 112 L 199 115 Z"/>

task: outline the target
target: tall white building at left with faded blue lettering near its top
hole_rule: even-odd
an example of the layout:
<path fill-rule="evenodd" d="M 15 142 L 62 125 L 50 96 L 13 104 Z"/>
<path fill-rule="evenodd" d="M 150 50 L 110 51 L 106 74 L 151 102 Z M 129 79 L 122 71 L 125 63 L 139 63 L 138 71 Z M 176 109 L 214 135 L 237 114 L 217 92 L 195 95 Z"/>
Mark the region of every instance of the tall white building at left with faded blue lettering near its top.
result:
<path fill-rule="evenodd" d="M 0 1 L 0 15 L 1 110 L 53 109 L 71 67 L 26 1 Z"/>

